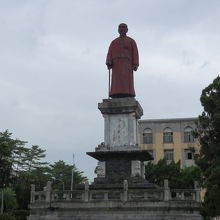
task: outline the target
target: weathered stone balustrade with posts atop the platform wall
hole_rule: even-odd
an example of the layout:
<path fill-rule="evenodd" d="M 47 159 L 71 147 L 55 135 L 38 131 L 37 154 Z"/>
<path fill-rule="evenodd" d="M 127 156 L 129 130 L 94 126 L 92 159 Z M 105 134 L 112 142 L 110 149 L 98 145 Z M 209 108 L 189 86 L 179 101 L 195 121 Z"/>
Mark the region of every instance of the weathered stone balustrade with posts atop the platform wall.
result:
<path fill-rule="evenodd" d="M 35 191 L 31 187 L 31 203 L 72 201 L 72 202 L 93 202 L 93 201 L 171 201 L 171 200 L 193 200 L 200 202 L 200 188 L 195 184 L 194 189 L 170 189 L 168 180 L 164 180 L 164 187 L 157 189 L 129 188 L 127 180 L 124 181 L 121 189 L 89 189 L 88 182 L 84 190 L 58 191 L 52 190 L 51 182 L 47 183 L 44 191 Z"/>

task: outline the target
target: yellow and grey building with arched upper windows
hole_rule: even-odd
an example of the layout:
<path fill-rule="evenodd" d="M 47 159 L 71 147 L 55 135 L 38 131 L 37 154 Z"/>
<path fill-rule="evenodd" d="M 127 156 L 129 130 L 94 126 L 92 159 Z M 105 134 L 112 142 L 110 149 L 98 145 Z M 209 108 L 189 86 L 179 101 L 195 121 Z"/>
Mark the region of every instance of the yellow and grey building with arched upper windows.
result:
<path fill-rule="evenodd" d="M 194 165 L 199 143 L 193 138 L 197 118 L 139 120 L 139 145 L 148 150 L 154 163 L 165 158 L 180 161 L 181 167 Z"/>

